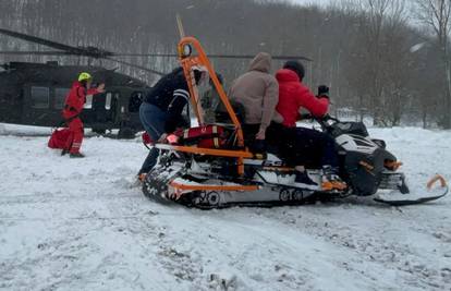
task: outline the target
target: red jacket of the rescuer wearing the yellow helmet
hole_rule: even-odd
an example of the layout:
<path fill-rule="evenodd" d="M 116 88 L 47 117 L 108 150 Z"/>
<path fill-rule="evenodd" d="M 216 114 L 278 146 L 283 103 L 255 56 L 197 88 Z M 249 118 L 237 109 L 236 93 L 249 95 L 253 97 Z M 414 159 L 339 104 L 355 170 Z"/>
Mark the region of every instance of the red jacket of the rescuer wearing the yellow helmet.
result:
<path fill-rule="evenodd" d="M 98 94 L 99 92 L 96 88 L 90 88 L 86 90 L 80 82 L 74 82 L 72 88 L 65 97 L 64 108 L 63 108 L 63 118 L 70 119 L 80 114 L 83 110 L 83 106 L 86 102 L 86 95 Z"/>

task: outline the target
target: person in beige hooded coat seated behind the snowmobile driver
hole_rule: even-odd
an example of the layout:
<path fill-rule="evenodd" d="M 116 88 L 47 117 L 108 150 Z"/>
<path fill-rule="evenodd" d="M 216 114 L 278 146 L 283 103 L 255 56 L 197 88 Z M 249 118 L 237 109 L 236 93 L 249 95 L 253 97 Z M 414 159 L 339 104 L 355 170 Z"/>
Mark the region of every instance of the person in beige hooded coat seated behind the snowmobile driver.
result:
<path fill-rule="evenodd" d="M 270 73 L 271 56 L 259 52 L 246 73 L 233 81 L 231 100 L 243 105 L 245 143 L 255 150 L 264 150 L 266 129 L 271 123 L 279 101 L 279 85 Z"/>

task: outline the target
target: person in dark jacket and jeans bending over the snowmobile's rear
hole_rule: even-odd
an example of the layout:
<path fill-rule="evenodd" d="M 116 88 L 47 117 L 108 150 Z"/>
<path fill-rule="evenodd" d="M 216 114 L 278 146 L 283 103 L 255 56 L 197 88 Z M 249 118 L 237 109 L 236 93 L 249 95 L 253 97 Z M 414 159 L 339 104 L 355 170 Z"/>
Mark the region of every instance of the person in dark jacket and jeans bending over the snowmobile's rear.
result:
<path fill-rule="evenodd" d="M 205 72 L 200 70 L 194 70 L 196 84 L 200 82 Z M 154 142 L 163 142 L 176 128 L 190 126 L 190 122 L 182 114 L 188 102 L 190 88 L 183 68 L 174 69 L 157 82 L 139 107 L 141 122 Z M 154 168 L 158 156 L 159 150 L 153 147 L 141 167 L 139 180 L 143 181 L 145 174 Z"/>

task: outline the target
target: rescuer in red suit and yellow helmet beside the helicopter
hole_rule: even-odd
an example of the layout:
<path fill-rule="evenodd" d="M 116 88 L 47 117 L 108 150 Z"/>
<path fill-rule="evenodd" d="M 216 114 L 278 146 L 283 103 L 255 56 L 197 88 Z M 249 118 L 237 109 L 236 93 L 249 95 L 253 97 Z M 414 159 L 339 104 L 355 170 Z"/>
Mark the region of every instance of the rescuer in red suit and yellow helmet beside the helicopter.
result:
<path fill-rule="evenodd" d="M 80 119 L 80 114 L 86 102 L 86 95 L 95 95 L 105 92 L 105 84 L 100 84 L 97 88 L 90 88 L 92 81 L 93 77 L 89 73 L 81 73 L 78 75 L 78 81 L 73 83 L 71 90 L 65 97 L 62 116 L 71 134 L 61 155 L 69 153 L 71 158 L 84 157 L 84 155 L 80 153 L 84 135 L 83 122 Z"/>

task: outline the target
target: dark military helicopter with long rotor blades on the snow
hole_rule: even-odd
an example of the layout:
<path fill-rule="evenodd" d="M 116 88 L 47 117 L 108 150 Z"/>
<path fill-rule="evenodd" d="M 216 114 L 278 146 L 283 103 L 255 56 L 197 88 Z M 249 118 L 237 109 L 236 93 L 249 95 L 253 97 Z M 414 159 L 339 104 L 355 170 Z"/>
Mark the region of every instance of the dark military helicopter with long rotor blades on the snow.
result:
<path fill-rule="evenodd" d="M 56 50 L 50 51 L 0 51 L 5 56 L 78 56 L 92 59 L 105 59 L 146 73 L 164 75 L 163 72 L 143 65 L 119 60 L 114 57 L 173 57 L 176 53 L 118 53 L 96 47 L 74 47 L 41 37 L 0 28 L 0 34 L 44 45 Z M 216 59 L 252 59 L 254 56 L 210 54 Z M 302 59 L 301 56 L 273 56 L 275 60 Z M 90 61 L 89 61 L 90 62 Z M 89 72 L 95 82 L 106 83 L 103 94 L 88 96 L 82 112 L 82 120 L 93 132 L 105 134 L 119 129 L 119 138 L 133 138 L 143 131 L 139 121 L 139 106 L 145 94 L 151 87 L 135 77 L 115 72 L 115 70 L 94 65 L 61 65 L 57 61 L 46 63 L 10 62 L 0 64 L 0 122 L 58 126 L 62 125 L 61 110 L 72 82 L 81 72 Z"/>

